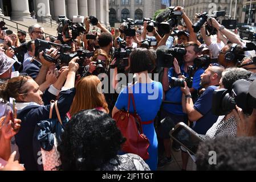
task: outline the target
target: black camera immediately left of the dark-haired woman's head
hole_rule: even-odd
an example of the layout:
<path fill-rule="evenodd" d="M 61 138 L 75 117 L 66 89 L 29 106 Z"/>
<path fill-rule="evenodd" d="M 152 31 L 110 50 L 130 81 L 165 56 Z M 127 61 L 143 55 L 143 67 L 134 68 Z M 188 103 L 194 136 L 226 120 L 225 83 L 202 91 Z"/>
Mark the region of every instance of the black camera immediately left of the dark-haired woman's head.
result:
<path fill-rule="evenodd" d="M 125 69 L 125 67 L 128 67 L 129 65 L 129 60 L 128 57 L 129 55 L 132 53 L 133 50 L 127 49 L 125 51 L 121 51 L 121 49 L 117 49 L 115 50 L 115 52 L 113 53 L 113 59 L 116 58 L 116 63 L 115 66 L 118 69 Z"/>

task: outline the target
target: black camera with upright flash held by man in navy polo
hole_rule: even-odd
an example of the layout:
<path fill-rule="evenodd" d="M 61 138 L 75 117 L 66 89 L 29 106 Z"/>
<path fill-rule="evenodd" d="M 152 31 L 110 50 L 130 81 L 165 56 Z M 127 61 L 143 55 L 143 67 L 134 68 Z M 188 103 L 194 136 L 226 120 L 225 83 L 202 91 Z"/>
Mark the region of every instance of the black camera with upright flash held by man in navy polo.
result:
<path fill-rule="evenodd" d="M 188 75 L 189 75 L 189 77 L 186 77 L 186 78 L 172 77 L 172 79 L 170 81 L 170 88 L 173 88 L 173 87 L 176 87 L 176 86 L 185 87 L 184 82 L 186 82 L 186 85 L 188 86 L 188 88 L 192 88 L 193 75 L 194 75 L 193 66 L 188 67 Z"/>

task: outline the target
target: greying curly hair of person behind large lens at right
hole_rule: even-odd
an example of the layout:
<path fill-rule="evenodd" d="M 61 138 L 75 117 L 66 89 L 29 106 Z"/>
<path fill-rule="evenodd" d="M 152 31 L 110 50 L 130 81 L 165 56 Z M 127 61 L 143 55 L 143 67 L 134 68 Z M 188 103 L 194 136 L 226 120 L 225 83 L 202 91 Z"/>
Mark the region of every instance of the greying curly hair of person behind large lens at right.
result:
<path fill-rule="evenodd" d="M 232 85 L 235 81 L 247 79 L 251 76 L 251 72 L 243 68 L 227 68 L 222 72 L 222 84 L 225 89 L 231 93 Z"/>

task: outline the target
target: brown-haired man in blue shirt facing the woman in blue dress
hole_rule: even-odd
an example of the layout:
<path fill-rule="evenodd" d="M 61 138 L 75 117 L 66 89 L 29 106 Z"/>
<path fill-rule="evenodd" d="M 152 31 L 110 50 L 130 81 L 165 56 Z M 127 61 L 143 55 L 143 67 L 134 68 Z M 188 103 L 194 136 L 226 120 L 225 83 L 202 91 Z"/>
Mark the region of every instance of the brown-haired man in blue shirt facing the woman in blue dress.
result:
<path fill-rule="evenodd" d="M 199 46 L 193 42 L 185 44 L 185 48 L 187 52 L 184 56 L 184 63 L 181 65 L 181 67 L 178 65 L 178 61 L 174 59 L 174 67 L 170 69 L 164 68 L 164 75 L 162 78 L 162 84 L 164 87 L 164 91 L 166 92 L 165 101 L 169 101 L 175 104 L 164 104 L 164 106 L 162 107 L 163 110 L 161 111 L 161 118 L 170 117 L 173 120 L 174 124 L 177 124 L 178 122 L 188 123 L 188 117 L 185 113 L 183 113 L 182 110 L 182 92 L 180 87 L 176 86 L 170 88 L 170 82 L 172 82 L 172 77 L 183 78 L 183 75 L 185 77 L 189 77 L 188 68 L 189 66 L 193 66 L 194 59 L 196 59 L 201 52 Z M 202 75 L 202 73 L 204 73 L 204 70 L 202 68 L 199 68 L 194 73 L 192 88 L 190 88 L 191 93 L 196 93 L 197 90 L 200 88 L 200 76 Z M 170 139 L 163 139 L 165 144 L 166 157 L 170 158 Z M 174 150 L 180 150 L 180 146 L 178 146 L 177 143 L 174 144 Z"/>

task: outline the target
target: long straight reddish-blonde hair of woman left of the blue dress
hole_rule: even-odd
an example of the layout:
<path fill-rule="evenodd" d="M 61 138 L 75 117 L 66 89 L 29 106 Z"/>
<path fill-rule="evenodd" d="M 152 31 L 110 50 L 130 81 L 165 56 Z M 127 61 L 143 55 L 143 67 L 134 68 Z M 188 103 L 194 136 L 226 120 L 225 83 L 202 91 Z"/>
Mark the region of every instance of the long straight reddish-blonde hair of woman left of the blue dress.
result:
<path fill-rule="evenodd" d="M 103 107 L 109 113 L 104 94 L 97 91 L 98 85 L 101 88 L 100 79 L 94 75 L 84 77 L 78 82 L 75 98 L 70 109 L 71 116 L 81 110 L 95 109 L 96 107 Z"/>

